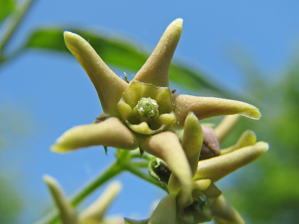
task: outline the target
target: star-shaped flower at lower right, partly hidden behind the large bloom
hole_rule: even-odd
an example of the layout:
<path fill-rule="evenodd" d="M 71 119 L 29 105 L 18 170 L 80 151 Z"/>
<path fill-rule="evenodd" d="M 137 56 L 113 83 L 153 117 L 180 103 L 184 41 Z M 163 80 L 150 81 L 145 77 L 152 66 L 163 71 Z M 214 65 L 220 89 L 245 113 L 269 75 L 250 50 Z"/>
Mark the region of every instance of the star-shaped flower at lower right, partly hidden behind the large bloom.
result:
<path fill-rule="evenodd" d="M 164 182 L 170 193 L 160 201 L 149 219 L 125 219 L 126 224 L 197 224 L 212 219 L 216 224 L 245 224 L 245 220 L 225 199 L 214 182 L 263 155 L 269 145 L 266 142 L 256 142 L 254 132 L 248 130 L 235 145 L 222 149 L 220 156 L 198 161 L 202 142 L 201 125 L 196 116 L 189 113 L 181 145 L 193 173 L 192 197 L 185 197 L 180 182 L 173 173 L 167 178 L 169 172 L 165 171 L 165 166 L 163 169 L 156 167 L 158 175 L 164 177 L 164 181 L 159 180 Z M 153 162 L 157 164 L 154 160 Z"/>

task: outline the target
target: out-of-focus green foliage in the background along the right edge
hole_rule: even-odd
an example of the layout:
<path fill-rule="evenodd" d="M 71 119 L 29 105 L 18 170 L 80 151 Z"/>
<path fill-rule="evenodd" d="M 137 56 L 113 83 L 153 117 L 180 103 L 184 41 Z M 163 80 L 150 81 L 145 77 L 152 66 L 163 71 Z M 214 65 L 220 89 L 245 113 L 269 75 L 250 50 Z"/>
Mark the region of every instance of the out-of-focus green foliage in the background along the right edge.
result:
<path fill-rule="evenodd" d="M 239 54 L 238 54 L 239 55 Z M 280 72 L 277 79 L 259 73 L 250 57 L 237 57 L 236 64 L 254 82 L 246 82 L 249 99 L 257 106 L 259 121 L 242 119 L 231 137 L 245 129 L 258 140 L 269 142 L 269 151 L 235 177 L 223 189 L 230 202 L 252 223 L 299 223 L 299 58 Z M 255 74 L 253 74 L 255 73 Z M 259 83 L 259 85 L 257 85 Z M 261 88 L 262 85 L 262 88 Z"/>

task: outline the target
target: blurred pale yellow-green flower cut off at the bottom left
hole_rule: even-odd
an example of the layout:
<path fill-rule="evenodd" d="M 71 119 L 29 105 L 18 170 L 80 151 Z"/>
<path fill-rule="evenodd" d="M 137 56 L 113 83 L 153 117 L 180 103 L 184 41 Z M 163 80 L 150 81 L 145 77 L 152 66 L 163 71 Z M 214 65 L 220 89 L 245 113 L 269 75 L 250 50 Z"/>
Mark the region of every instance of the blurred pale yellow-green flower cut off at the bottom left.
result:
<path fill-rule="evenodd" d="M 120 217 L 104 217 L 109 205 L 120 191 L 121 185 L 119 182 L 112 182 L 93 204 L 89 205 L 80 214 L 77 214 L 65 197 L 57 180 L 45 175 L 44 181 L 48 185 L 55 204 L 59 209 L 62 224 L 123 224 L 123 220 Z"/>

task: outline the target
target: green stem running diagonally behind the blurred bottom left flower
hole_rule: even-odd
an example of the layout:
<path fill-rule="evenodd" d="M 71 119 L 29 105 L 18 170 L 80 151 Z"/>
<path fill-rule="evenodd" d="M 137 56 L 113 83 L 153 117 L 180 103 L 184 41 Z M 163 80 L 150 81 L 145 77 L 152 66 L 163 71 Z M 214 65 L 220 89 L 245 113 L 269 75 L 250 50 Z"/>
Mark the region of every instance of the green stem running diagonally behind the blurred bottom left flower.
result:
<path fill-rule="evenodd" d="M 85 197 L 91 194 L 95 189 L 100 187 L 103 183 L 115 177 L 123 171 L 118 161 L 114 162 L 103 174 L 87 184 L 83 189 L 81 189 L 77 194 L 75 194 L 71 199 L 71 204 L 73 206 L 78 205 Z M 46 215 L 42 220 L 39 220 L 35 224 L 53 224 L 59 220 L 59 213 L 57 209 L 54 209 L 49 214 Z"/>

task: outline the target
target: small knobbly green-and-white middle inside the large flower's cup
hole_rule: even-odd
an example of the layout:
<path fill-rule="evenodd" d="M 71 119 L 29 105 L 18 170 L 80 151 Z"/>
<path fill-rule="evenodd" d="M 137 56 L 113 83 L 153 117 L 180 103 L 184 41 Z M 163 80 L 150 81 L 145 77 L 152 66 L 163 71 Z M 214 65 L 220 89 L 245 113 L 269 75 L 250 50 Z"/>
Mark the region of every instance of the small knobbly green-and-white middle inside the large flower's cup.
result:
<path fill-rule="evenodd" d="M 159 116 L 158 103 L 150 97 L 142 97 L 133 108 L 133 114 L 140 122 L 150 123 Z"/>

